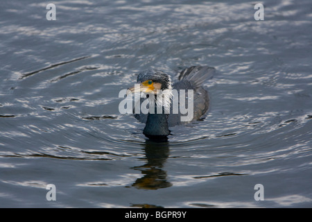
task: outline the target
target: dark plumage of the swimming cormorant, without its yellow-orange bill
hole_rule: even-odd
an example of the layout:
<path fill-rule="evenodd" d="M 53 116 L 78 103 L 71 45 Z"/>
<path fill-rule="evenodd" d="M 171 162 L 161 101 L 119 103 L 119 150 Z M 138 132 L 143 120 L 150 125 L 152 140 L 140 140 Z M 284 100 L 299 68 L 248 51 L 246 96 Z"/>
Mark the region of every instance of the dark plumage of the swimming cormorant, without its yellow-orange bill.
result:
<path fill-rule="evenodd" d="M 137 83 L 141 83 L 144 89 L 141 89 L 141 92 L 144 92 L 145 89 L 149 89 L 149 93 L 155 94 L 155 98 L 157 100 L 156 88 L 164 90 L 164 95 L 167 93 L 171 93 L 171 89 L 177 89 L 177 92 L 180 92 L 180 89 L 186 89 L 186 97 L 188 96 L 188 89 L 193 89 L 193 120 L 198 120 L 205 114 L 209 108 L 209 95 L 208 92 L 202 87 L 202 84 L 205 80 L 210 79 L 214 76 L 215 69 L 213 67 L 207 66 L 193 66 L 186 69 L 183 69 L 180 74 L 177 76 L 178 81 L 174 84 L 171 83 L 171 77 L 165 74 L 162 71 L 155 69 L 147 69 L 146 71 L 142 71 L 137 77 Z M 149 83 L 153 82 L 153 87 L 149 87 Z M 129 88 L 131 92 L 135 92 L 134 88 Z M 154 90 L 153 92 L 151 90 Z M 166 90 L 167 89 L 167 90 Z M 180 93 L 177 94 L 180 96 Z M 177 96 L 173 94 L 173 96 Z M 147 96 L 148 97 L 148 96 Z M 168 96 L 167 96 L 168 97 Z M 167 98 L 165 97 L 165 98 Z M 173 99 L 171 96 L 169 100 L 165 99 L 167 103 L 171 103 L 169 114 L 156 113 L 155 104 L 155 114 L 135 114 L 135 118 L 137 118 L 142 123 L 146 123 L 146 127 L 144 128 L 144 135 L 147 137 L 166 137 L 170 133 L 168 127 L 176 126 L 180 124 L 184 124 L 187 122 L 181 121 L 181 116 L 186 116 L 186 114 L 181 114 L 180 110 L 178 114 L 173 114 Z M 145 99 L 141 99 L 141 103 Z M 187 99 L 186 106 L 187 104 Z M 180 101 L 179 101 L 180 107 Z M 163 107 L 163 110 L 165 108 Z"/>

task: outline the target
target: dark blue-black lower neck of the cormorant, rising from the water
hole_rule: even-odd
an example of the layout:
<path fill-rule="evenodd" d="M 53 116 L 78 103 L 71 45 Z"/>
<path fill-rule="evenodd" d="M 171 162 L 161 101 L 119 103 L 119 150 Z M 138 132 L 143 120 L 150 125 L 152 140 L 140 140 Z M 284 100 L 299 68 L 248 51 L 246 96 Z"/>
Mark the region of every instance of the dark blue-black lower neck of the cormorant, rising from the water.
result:
<path fill-rule="evenodd" d="M 164 107 L 162 109 L 162 113 L 157 113 L 157 104 L 155 103 L 155 112 L 148 113 L 143 132 L 147 137 L 166 137 L 169 135 L 168 114 L 164 112 Z"/>

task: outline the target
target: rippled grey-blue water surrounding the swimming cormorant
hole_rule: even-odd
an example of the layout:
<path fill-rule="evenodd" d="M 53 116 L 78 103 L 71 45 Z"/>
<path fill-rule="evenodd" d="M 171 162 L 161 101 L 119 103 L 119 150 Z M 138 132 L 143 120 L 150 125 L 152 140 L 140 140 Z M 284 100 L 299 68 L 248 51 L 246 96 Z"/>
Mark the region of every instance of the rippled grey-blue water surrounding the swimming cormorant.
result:
<path fill-rule="evenodd" d="M 312 207 L 311 1 L 53 3 L 1 3 L 0 207 Z M 119 91 L 191 65 L 205 119 L 146 140 Z"/>

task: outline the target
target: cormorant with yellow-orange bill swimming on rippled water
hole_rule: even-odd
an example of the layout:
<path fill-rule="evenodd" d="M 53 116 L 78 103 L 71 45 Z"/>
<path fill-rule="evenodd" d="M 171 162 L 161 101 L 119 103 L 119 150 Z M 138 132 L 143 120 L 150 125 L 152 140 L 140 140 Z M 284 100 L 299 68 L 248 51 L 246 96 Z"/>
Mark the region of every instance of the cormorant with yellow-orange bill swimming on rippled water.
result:
<path fill-rule="evenodd" d="M 177 80 L 172 83 L 171 76 L 159 69 L 141 71 L 137 76 L 139 87 L 129 87 L 127 94 L 143 92 L 146 98 L 140 98 L 137 101 L 139 105 L 144 100 L 148 100 L 148 113 L 141 111 L 135 113 L 135 108 L 133 109 L 135 118 L 146 124 L 143 130 L 144 135 L 153 140 L 164 139 L 171 134 L 169 128 L 199 120 L 209 109 L 209 94 L 203 87 L 203 83 L 213 78 L 215 72 L 214 67 L 200 65 L 187 67 L 180 71 Z M 193 103 L 191 119 L 187 121 L 182 121 L 182 118 L 186 117 L 185 112 L 182 113 L 178 108 L 178 112 L 176 110 L 173 112 L 176 105 L 183 105 L 181 101 L 182 89 L 184 89 L 185 100 L 187 101 L 184 103 L 188 106 Z M 174 103 L 174 101 L 178 102 Z"/>

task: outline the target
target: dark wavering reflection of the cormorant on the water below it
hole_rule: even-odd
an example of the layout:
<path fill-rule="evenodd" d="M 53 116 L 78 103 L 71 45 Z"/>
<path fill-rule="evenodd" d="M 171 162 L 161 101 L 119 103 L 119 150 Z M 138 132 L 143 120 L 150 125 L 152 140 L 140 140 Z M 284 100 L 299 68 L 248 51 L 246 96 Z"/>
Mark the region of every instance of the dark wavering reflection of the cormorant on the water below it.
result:
<path fill-rule="evenodd" d="M 168 142 L 155 142 L 151 139 L 146 139 L 143 145 L 145 151 L 146 164 L 132 169 L 139 170 L 144 175 L 138 178 L 132 187 L 137 189 L 160 189 L 171 187 L 171 182 L 167 181 L 167 173 L 163 170 L 164 163 L 169 155 Z"/>

